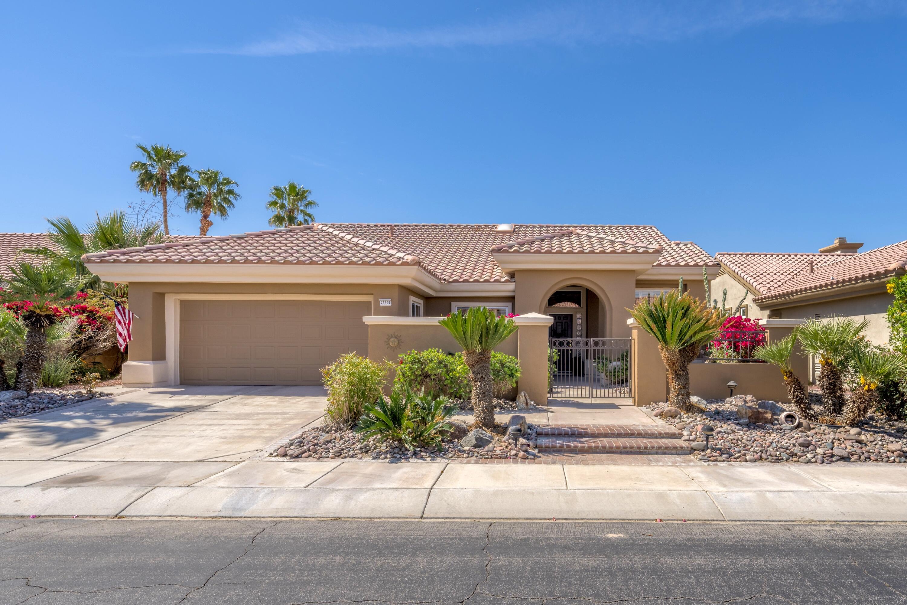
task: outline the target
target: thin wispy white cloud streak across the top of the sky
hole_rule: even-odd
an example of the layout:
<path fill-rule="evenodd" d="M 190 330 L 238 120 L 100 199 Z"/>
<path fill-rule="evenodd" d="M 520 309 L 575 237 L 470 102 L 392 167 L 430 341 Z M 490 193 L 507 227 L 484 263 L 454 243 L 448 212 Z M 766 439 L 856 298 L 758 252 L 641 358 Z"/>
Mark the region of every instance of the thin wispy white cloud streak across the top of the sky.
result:
<path fill-rule="evenodd" d="M 827 24 L 907 15 L 899 0 L 615 0 L 531 15 L 414 29 L 333 21 L 302 22 L 288 32 L 236 47 L 190 53 L 283 56 L 510 44 L 638 44 L 701 34 L 733 34 L 759 24 Z"/>

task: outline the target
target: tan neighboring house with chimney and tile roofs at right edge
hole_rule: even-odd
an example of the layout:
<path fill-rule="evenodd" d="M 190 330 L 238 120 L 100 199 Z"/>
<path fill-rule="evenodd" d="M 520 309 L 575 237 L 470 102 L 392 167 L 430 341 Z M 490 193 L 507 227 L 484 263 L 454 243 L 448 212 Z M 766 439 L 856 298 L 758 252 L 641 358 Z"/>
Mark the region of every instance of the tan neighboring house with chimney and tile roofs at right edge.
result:
<path fill-rule="evenodd" d="M 907 241 L 858 252 L 863 244 L 837 238 L 817 253 L 719 252 L 712 298 L 727 288 L 727 307 L 748 293 L 748 317 L 810 319 L 832 315 L 868 319 L 866 337 L 888 342 L 885 282 L 904 273 Z"/>

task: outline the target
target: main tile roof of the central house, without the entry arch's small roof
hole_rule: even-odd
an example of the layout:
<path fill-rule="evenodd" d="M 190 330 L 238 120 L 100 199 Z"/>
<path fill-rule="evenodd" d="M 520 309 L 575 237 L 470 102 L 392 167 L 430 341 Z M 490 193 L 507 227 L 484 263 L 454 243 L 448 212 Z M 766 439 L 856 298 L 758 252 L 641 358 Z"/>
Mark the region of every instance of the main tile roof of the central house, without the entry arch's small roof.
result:
<path fill-rule="evenodd" d="M 236 236 L 197 239 L 141 249 L 90 255 L 93 261 L 120 262 L 291 262 L 419 265 L 445 282 L 512 281 L 492 257 L 502 244 L 581 231 L 595 246 L 662 249 L 656 265 L 717 265 L 689 242 L 671 242 L 646 225 L 496 225 L 317 223 Z M 610 241 L 608 241 L 610 240 Z M 607 243 L 606 243 L 607 242 Z M 580 242 L 571 245 L 579 246 Z M 588 251 L 588 250 L 587 250 Z"/>

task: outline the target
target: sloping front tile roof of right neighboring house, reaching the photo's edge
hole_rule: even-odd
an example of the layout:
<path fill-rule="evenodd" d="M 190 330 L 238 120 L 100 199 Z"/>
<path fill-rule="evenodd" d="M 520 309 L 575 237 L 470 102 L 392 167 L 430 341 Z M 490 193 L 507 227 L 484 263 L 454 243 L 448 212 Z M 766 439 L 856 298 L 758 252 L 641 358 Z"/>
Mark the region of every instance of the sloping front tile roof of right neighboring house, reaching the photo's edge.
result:
<path fill-rule="evenodd" d="M 905 268 L 907 268 L 907 241 L 900 241 L 860 254 L 848 254 L 836 262 L 826 263 L 818 268 L 814 266 L 812 272 L 805 268 L 766 295 L 757 297 L 756 302 L 889 278 L 895 274 L 902 274 Z"/>

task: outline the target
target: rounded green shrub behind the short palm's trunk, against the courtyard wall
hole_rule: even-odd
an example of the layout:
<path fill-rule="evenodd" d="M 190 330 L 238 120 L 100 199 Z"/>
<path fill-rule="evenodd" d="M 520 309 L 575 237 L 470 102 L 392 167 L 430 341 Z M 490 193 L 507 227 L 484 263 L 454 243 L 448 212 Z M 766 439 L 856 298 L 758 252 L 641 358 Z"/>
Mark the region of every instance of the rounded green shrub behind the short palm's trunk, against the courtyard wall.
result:
<path fill-rule="evenodd" d="M 520 360 L 492 351 L 491 366 L 494 395 L 502 397 L 520 378 Z M 454 399 L 469 399 L 472 394 L 469 368 L 460 353 L 448 354 L 439 348 L 409 351 L 400 356 L 396 370 L 395 385 L 414 393 L 424 389 Z"/>

